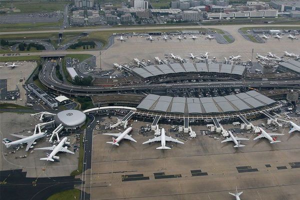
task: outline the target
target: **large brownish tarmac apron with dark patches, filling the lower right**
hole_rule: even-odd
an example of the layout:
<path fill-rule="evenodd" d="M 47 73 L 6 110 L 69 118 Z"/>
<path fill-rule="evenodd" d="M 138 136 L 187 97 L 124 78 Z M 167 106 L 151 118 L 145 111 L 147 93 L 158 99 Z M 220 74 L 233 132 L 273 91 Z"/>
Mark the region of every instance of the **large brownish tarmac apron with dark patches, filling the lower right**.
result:
<path fill-rule="evenodd" d="M 258 125 L 266 119 L 252 122 Z M 104 123 L 111 119 L 105 117 L 101 125 Z M 93 131 L 92 165 L 85 182 L 91 199 L 229 200 L 228 192 L 234 192 L 235 186 L 243 191 L 241 199 L 300 198 L 299 132 L 287 134 L 288 128 L 278 129 L 285 135 L 275 144 L 266 139 L 254 141 L 257 135 L 245 133 L 242 137 L 250 139 L 242 142 L 246 146 L 234 148 L 232 142 L 201 135 L 206 126 L 193 126 L 195 139 L 184 144 L 167 142 L 172 149 L 163 151 L 155 149 L 160 143 L 141 144 L 153 137 L 153 133 L 138 134 L 141 125 L 145 123 L 132 123 L 131 134 L 137 143 L 124 140 L 119 146 L 105 143 L 111 137 L 101 133 L 111 130 Z M 224 125 L 225 129 L 232 127 Z"/>

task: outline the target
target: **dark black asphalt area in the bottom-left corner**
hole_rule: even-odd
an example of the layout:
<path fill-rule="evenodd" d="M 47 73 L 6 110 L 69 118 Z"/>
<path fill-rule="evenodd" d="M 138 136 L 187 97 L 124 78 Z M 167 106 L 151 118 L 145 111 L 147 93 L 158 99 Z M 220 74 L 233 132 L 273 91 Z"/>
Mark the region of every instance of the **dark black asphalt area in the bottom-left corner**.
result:
<path fill-rule="evenodd" d="M 0 171 L 0 199 L 5 200 L 40 200 L 80 184 L 74 176 L 60 177 L 26 177 L 21 169 Z"/>

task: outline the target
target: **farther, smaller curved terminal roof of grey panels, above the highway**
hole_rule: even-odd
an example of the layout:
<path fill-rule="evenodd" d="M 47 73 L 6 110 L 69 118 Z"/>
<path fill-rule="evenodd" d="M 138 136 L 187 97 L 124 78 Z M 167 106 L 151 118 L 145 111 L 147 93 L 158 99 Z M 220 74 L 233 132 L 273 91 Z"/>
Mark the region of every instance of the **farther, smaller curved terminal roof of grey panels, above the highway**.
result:
<path fill-rule="evenodd" d="M 143 78 L 163 75 L 169 73 L 184 73 L 184 72 L 214 72 L 227 73 L 234 75 L 242 75 L 246 70 L 245 66 L 231 65 L 222 63 L 171 63 L 149 65 L 141 68 L 133 68 L 136 74 Z"/>

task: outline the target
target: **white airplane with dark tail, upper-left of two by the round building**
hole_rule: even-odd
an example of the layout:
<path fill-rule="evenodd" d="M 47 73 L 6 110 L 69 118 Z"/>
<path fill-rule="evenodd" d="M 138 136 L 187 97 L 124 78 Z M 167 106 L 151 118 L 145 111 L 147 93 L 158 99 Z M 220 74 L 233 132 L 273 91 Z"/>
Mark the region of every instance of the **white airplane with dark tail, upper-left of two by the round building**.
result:
<path fill-rule="evenodd" d="M 10 145 L 19 145 L 19 144 L 26 143 L 27 146 L 26 146 L 25 150 L 27 151 L 29 148 L 33 148 L 32 144 L 33 145 L 36 144 L 35 139 L 39 139 L 41 137 L 44 137 L 46 134 L 47 134 L 47 132 L 40 132 L 40 133 L 36 133 L 36 134 L 30 135 L 30 136 L 11 134 L 12 136 L 18 137 L 20 139 L 15 140 L 15 141 L 11 141 L 7 138 L 3 138 L 2 143 L 5 144 L 6 148 L 8 148 Z"/>

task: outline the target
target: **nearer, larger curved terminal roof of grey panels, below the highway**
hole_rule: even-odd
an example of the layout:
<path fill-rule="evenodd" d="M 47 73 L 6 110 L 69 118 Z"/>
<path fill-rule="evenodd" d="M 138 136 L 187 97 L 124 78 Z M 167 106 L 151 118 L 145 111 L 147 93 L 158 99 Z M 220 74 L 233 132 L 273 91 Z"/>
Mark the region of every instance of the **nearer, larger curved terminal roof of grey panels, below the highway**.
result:
<path fill-rule="evenodd" d="M 201 114 L 235 112 L 275 103 L 257 91 L 215 97 L 171 97 L 148 94 L 136 107 L 150 111 Z"/>

